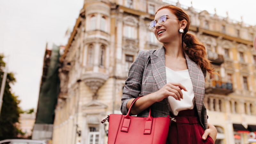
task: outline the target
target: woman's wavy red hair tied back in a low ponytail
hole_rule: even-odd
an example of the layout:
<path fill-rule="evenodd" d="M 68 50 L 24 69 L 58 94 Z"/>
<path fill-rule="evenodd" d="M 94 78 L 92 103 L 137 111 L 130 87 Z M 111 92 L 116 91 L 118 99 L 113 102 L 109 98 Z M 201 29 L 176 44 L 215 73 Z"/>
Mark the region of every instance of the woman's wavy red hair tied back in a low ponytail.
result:
<path fill-rule="evenodd" d="M 189 16 L 186 12 L 184 12 L 181 8 L 174 6 L 174 5 L 164 5 L 160 7 L 156 13 L 159 10 L 162 9 L 169 9 L 173 14 L 177 16 L 179 20 L 186 20 L 187 21 L 187 26 L 184 29 L 184 33 L 182 33 L 182 50 L 184 53 L 188 55 L 188 57 L 196 62 L 196 64 L 202 69 L 204 72 L 208 72 L 210 76 L 212 77 L 213 74 L 217 74 L 214 72 L 214 68 L 212 67 L 211 61 L 206 58 L 206 51 L 204 45 L 198 40 L 198 38 L 188 32 L 189 28 Z"/>

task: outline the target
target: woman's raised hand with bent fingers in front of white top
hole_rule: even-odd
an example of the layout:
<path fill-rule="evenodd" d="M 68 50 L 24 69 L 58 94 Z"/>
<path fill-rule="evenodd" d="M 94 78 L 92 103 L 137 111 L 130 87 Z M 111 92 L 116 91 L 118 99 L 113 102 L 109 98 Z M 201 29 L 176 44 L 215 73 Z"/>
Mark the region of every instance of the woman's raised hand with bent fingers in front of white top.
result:
<path fill-rule="evenodd" d="M 176 100 L 183 99 L 183 95 L 181 90 L 187 91 L 187 89 L 180 83 L 169 82 L 160 90 L 155 92 L 155 100 L 157 102 L 167 98 L 168 96 L 172 96 Z"/>

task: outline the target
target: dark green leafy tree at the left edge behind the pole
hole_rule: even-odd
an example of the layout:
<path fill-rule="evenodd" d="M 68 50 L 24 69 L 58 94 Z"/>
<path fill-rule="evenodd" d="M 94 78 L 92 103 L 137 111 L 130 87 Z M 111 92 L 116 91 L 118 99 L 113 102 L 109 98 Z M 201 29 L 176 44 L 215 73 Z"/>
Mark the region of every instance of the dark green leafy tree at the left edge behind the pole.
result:
<path fill-rule="evenodd" d="M 2 67 L 5 66 L 3 61 L 4 56 L 0 55 L 0 84 L 2 84 L 4 72 Z M 10 84 L 14 84 L 15 78 L 13 73 L 8 73 L 6 78 L 6 84 L 4 88 L 3 104 L 0 115 L 0 140 L 11 139 L 17 137 L 20 130 L 16 128 L 16 124 L 19 123 L 19 110 L 18 104 L 20 100 L 17 99 L 11 91 Z M 22 135 L 22 133 L 20 133 Z"/>

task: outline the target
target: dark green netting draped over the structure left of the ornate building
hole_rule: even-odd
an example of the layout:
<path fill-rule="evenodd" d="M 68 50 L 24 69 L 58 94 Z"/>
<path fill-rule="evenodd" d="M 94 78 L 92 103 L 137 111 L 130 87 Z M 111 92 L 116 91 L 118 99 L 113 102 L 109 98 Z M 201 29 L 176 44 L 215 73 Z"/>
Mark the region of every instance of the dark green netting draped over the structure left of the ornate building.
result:
<path fill-rule="evenodd" d="M 53 124 L 54 109 L 60 88 L 58 76 L 60 47 L 53 44 L 46 80 L 40 89 L 36 112 L 36 124 Z"/>

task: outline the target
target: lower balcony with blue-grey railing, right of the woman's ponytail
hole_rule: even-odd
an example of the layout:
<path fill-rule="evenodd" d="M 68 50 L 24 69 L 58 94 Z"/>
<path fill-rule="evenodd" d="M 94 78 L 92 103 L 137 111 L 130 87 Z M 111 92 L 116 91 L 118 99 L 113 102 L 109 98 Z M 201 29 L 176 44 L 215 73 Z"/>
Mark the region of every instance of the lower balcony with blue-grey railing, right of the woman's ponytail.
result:
<path fill-rule="evenodd" d="M 205 88 L 205 93 L 228 95 L 233 92 L 233 85 L 221 81 L 213 80 L 209 87 Z"/>

